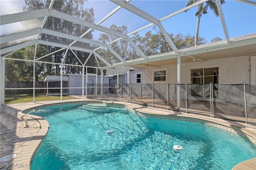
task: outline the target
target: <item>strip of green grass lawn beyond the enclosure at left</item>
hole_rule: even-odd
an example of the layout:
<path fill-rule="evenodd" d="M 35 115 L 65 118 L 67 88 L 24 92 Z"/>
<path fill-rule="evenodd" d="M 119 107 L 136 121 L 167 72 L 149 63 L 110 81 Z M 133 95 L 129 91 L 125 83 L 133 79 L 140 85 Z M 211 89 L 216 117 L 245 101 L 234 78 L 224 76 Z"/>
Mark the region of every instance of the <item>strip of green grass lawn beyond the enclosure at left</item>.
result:
<path fill-rule="evenodd" d="M 63 100 L 76 99 L 71 96 L 62 96 Z M 46 96 L 44 94 L 36 94 L 35 101 L 50 101 L 50 100 L 60 100 L 60 96 Z M 4 103 L 23 103 L 23 102 L 33 102 L 33 94 L 6 94 L 4 95 Z"/>

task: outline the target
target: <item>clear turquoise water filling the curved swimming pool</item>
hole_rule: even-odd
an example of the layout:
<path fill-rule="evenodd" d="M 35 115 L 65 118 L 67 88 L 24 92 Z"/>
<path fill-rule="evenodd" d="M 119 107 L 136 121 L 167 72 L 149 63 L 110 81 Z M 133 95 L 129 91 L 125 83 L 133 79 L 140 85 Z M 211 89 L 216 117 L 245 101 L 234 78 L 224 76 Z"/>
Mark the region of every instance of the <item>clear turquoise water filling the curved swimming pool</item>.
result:
<path fill-rule="evenodd" d="M 50 129 L 31 170 L 231 170 L 256 157 L 256 147 L 239 135 L 142 117 L 123 107 L 72 104 L 33 114 L 44 117 Z M 183 150 L 175 151 L 174 145 Z"/>

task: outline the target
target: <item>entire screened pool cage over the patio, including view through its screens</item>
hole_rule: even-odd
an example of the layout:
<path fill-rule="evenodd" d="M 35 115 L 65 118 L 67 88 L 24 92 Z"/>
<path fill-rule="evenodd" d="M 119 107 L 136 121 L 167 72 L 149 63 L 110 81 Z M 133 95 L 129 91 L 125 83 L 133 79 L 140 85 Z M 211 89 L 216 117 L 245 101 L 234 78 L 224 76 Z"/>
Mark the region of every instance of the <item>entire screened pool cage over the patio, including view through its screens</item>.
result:
<path fill-rule="evenodd" d="M 0 43 L 1 105 L 47 91 L 256 119 L 255 0 L 1 0 Z"/>

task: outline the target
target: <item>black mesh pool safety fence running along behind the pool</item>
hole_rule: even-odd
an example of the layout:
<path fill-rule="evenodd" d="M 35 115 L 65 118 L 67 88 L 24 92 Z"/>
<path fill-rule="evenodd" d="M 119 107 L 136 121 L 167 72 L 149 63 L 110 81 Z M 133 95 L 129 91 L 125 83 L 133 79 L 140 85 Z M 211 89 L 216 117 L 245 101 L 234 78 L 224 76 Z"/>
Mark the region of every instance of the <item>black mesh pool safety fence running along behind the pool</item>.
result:
<path fill-rule="evenodd" d="M 34 90 L 31 99 L 33 102 L 39 90 L 46 95 L 58 95 L 60 100 L 64 95 L 115 100 L 256 125 L 256 84 L 84 83 L 76 87 L 60 84 L 48 88 L 5 88 L 5 93 L 9 94 L 9 90 L 12 92 L 12 97 L 18 94 L 15 93 L 16 90 L 24 90 L 25 93 Z"/>

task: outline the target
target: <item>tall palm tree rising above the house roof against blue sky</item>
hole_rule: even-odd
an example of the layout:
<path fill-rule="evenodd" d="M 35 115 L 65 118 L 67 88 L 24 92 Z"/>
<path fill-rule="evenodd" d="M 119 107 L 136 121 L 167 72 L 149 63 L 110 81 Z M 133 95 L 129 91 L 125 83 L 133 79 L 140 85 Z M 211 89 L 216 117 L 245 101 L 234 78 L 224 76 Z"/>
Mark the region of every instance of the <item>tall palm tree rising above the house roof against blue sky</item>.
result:
<path fill-rule="evenodd" d="M 195 2 L 198 2 L 199 0 L 189 0 L 186 6 L 190 6 L 191 4 L 194 4 Z M 220 4 L 224 4 L 225 0 L 220 0 Z M 205 4 L 205 5 L 204 5 Z M 207 14 L 208 7 L 214 12 L 215 16 L 219 16 L 217 4 L 215 0 L 208 0 L 200 5 L 197 6 L 197 23 L 196 23 L 196 35 L 195 35 L 195 46 L 198 45 L 198 32 L 199 32 L 199 24 L 202 14 Z M 185 12 L 187 12 L 186 10 Z"/>

